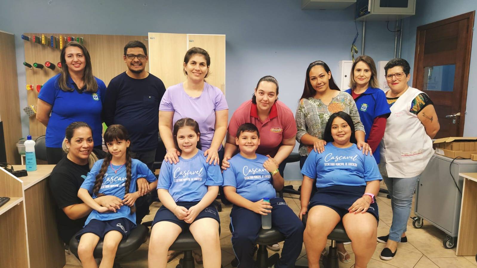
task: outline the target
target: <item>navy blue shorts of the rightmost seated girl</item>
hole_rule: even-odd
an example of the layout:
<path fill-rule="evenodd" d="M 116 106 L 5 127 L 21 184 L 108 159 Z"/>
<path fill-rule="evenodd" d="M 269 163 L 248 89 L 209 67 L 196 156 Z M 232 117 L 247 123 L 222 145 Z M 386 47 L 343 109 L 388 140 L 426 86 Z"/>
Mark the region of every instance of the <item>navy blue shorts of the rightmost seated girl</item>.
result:
<path fill-rule="evenodd" d="M 365 189 L 366 186 L 344 185 L 318 188 L 311 198 L 308 211 L 314 206 L 321 205 L 332 208 L 340 215 L 340 218 L 343 218 L 343 216 L 348 213 L 348 208 L 350 208 L 357 199 L 363 197 Z M 378 204 L 375 201 L 374 198 L 374 203 L 371 204 L 366 212 L 371 213 L 379 222 Z"/>

